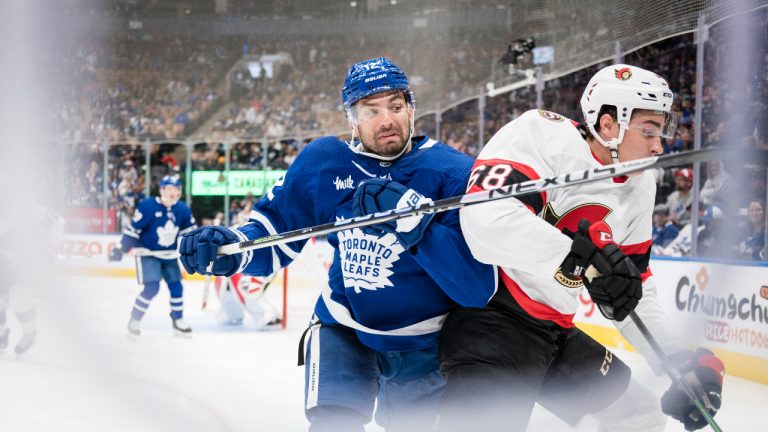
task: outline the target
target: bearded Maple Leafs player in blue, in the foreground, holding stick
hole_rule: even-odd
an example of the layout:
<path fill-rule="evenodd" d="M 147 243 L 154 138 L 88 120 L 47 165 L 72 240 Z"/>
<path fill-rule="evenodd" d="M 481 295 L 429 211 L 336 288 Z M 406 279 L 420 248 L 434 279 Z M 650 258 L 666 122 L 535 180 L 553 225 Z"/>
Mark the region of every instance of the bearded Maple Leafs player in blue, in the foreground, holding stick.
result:
<path fill-rule="evenodd" d="M 236 243 L 437 200 L 464 192 L 472 158 L 413 136 L 414 96 L 403 71 L 375 58 L 351 67 L 342 100 L 349 143 L 323 137 L 299 154 L 260 200 L 250 223 L 184 236 L 187 271 L 268 275 L 305 241 L 216 256 Z M 376 403 L 388 431 L 431 430 L 444 381 L 437 339 L 457 303 L 483 306 L 496 288 L 493 267 L 475 261 L 457 210 L 413 216 L 328 237 L 335 248 L 328 285 L 315 307 L 305 365 L 311 431 L 363 431 Z"/>

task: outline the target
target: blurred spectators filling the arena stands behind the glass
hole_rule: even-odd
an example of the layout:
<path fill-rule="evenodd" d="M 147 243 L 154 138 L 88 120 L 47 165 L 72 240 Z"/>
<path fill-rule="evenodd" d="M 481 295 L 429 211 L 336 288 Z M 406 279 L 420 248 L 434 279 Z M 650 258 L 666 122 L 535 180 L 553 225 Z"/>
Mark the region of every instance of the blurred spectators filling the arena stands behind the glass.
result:
<path fill-rule="evenodd" d="M 768 25 L 763 22 L 760 28 L 755 37 L 768 39 Z M 532 87 L 487 98 L 480 136 L 478 99 L 466 96 L 479 92 L 488 77 L 484 59 L 499 58 L 504 45 L 493 43 L 488 35 L 477 37 L 485 42 L 477 44 L 452 36 L 439 42 L 425 41 L 423 46 L 398 47 L 394 52 L 391 45 L 377 40 L 341 36 L 317 40 L 233 37 L 211 42 L 119 34 L 112 41 L 79 47 L 73 60 L 80 64 L 76 85 L 68 90 L 71 97 L 67 99 L 72 103 L 59 110 L 57 119 L 63 125 L 62 139 L 73 143 L 67 205 L 101 207 L 106 200 L 109 208 L 123 209 L 124 217 L 128 217 L 136 200 L 144 196 L 147 183 L 154 192 L 160 176 L 173 172 L 184 175 L 187 152 L 192 170 L 223 170 L 229 144 L 230 169 L 287 169 L 311 139 L 347 132 L 338 89 L 348 64 L 382 55 L 396 59 L 412 77 L 417 100 L 416 134 L 437 137 L 475 156 L 499 128 L 536 104 Z M 728 71 L 727 52 L 733 47 L 721 39 L 713 28 L 701 95 L 702 144 L 768 149 L 768 50 L 762 46 L 750 56 L 752 75 L 746 82 L 734 81 L 723 76 Z M 434 56 L 421 55 L 430 51 L 448 53 L 447 66 L 430 68 Z M 262 55 L 282 60 L 269 67 L 259 64 L 260 70 L 238 62 L 243 56 L 258 59 Z M 665 152 L 692 149 L 698 127 L 693 37 L 682 35 L 657 42 L 624 60 L 668 78 L 675 93 L 673 110 L 679 113 L 680 122 L 675 138 L 664 143 Z M 596 64 L 547 81 L 543 108 L 580 120 L 581 90 L 602 66 Z M 435 95 L 442 97 L 442 106 L 456 105 L 436 114 L 433 105 L 419 104 L 422 97 L 431 101 Z M 208 127 L 199 129 L 204 123 Z M 196 136 L 198 129 L 202 132 Z M 194 145 L 146 146 L 147 140 L 186 140 Z M 104 142 L 120 145 L 104 146 Z M 146 165 L 147 151 L 149 170 L 141 168 Z M 727 255 L 764 259 L 760 233 L 764 233 L 765 223 L 761 225 L 759 220 L 764 219 L 761 199 L 765 198 L 765 168 L 734 168 L 716 163 L 700 172 L 700 209 L 709 219 L 700 225 L 700 229 L 706 228 L 699 237 L 708 231 L 714 238 L 711 233 L 717 224 L 738 227 L 739 240 L 729 240 L 731 252 Z M 732 170 L 739 175 L 734 176 Z M 685 255 L 689 253 L 685 247 L 670 249 L 670 245 L 674 246 L 675 239 L 690 225 L 693 170 L 656 174 L 660 206 L 654 212 L 659 231 L 655 251 Z M 736 184 L 747 187 L 735 191 Z M 233 199 L 232 205 L 231 214 L 242 214 L 252 199 Z M 689 232 L 689 245 L 690 236 Z M 699 242 L 699 254 L 722 254 L 722 250 L 707 251 L 706 244 Z"/>

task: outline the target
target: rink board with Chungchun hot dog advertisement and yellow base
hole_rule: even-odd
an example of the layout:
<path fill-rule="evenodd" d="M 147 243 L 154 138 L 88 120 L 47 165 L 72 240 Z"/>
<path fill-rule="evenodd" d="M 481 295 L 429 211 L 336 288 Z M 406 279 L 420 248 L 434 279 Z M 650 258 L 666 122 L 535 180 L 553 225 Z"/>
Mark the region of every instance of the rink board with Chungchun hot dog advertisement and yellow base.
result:
<path fill-rule="evenodd" d="M 768 383 L 768 266 L 654 258 L 659 303 L 691 347 L 717 353 L 730 375 Z M 632 349 L 586 291 L 574 320 L 607 346 Z"/>

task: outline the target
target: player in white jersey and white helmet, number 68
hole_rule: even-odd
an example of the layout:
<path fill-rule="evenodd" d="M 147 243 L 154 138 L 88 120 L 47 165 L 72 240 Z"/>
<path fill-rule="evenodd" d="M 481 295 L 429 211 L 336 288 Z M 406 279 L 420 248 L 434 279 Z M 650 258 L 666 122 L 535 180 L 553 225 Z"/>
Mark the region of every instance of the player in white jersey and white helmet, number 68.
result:
<path fill-rule="evenodd" d="M 581 106 L 584 124 L 532 110 L 504 126 L 480 153 L 468 190 L 658 155 L 661 138 L 674 136 L 667 82 L 638 67 L 597 72 Z M 441 430 L 521 431 L 536 402 L 571 424 L 592 415 L 601 430 L 660 431 L 662 411 L 688 430 L 706 425 L 675 383 L 659 403 L 621 360 L 573 324 L 586 287 L 658 367 L 627 319 L 635 310 L 709 412 L 719 409 L 722 362 L 708 350 L 686 349 L 656 299 L 648 267 L 655 192 L 652 175 L 643 172 L 461 210 L 473 255 L 499 266 L 504 286 L 487 307 L 457 308 L 443 326 Z M 592 277 L 592 269 L 600 275 Z"/>

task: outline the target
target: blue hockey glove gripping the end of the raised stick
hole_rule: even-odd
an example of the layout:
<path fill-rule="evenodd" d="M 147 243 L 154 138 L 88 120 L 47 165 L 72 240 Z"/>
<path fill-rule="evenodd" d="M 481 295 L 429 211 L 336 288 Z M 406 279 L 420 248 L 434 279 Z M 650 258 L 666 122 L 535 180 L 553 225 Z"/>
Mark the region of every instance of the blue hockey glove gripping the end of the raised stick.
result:
<path fill-rule="evenodd" d="M 206 226 L 198 228 L 181 238 L 179 254 L 181 264 L 187 273 L 213 274 L 216 276 L 231 276 L 237 272 L 243 259 L 243 254 L 217 256 L 220 246 L 239 243 L 240 238 L 229 228 L 221 226 Z M 209 273 L 208 266 L 213 262 Z"/>

